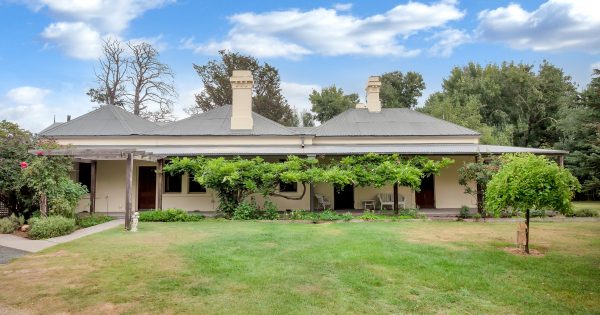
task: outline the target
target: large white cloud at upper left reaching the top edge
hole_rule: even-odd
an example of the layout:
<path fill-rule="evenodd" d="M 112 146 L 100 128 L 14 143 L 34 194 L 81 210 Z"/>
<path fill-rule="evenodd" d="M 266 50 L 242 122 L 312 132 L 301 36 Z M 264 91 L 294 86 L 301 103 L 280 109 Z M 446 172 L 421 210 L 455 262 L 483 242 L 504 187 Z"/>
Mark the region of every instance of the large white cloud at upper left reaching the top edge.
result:
<path fill-rule="evenodd" d="M 58 20 L 41 33 L 49 43 L 72 57 L 95 59 L 100 56 L 102 38 L 119 37 L 145 11 L 173 1 L 29 0 L 27 5 L 36 12 L 46 10 Z"/>

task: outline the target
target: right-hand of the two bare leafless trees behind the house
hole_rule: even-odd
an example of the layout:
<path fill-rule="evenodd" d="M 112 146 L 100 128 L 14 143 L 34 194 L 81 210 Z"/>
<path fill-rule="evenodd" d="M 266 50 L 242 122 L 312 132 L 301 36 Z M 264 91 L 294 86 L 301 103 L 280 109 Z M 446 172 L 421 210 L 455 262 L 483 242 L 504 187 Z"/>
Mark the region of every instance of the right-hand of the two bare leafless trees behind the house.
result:
<path fill-rule="evenodd" d="M 173 120 L 173 98 L 177 91 L 173 82 L 171 68 L 158 60 L 159 53 L 148 43 L 128 43 L 132 53 L 127 81 L 131 91 L 127 95 L 127 104 L 137 116 L 154 121 Z M 148 108 L 154 104 L 158 109 Z"/>

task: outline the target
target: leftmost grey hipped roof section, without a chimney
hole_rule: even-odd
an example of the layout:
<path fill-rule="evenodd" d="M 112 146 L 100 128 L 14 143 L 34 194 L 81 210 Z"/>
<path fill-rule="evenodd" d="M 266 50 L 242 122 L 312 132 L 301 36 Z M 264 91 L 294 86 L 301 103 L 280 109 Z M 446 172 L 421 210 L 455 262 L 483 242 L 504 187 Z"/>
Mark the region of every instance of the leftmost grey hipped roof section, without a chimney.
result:
<path fill-rule="evenodd" d="M 128 136 L 140 135 L 158 125 L 118 106 L 105 105 L 71 121 L 55 124 L 42 136 Z"/>

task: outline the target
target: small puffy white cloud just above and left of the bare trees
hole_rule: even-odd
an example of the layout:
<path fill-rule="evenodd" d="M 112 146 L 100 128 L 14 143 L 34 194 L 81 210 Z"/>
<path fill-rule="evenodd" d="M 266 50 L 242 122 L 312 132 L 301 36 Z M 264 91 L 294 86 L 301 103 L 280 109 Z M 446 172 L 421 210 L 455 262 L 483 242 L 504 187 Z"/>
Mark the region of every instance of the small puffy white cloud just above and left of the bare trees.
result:
<path fill-rule="evenodd" d="M 83 22 L 52 23 L 42 32 L 42 37 L 79 59 L 97 58 L 102 50 L 100 33 Z"/>

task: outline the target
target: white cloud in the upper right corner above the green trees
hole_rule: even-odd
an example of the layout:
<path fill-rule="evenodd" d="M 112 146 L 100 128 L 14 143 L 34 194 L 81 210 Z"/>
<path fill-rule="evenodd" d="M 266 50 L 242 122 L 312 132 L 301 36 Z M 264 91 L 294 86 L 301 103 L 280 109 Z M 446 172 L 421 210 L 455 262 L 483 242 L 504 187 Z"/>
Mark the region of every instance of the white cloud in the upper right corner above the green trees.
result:
<path fill-rule="evenodd" d="M 550 0 L 531 12 L 510 4 L 479 13 L 480 39 L 515 49 L 600 52 L 600 1 Z"/>

